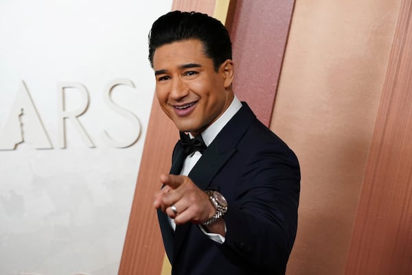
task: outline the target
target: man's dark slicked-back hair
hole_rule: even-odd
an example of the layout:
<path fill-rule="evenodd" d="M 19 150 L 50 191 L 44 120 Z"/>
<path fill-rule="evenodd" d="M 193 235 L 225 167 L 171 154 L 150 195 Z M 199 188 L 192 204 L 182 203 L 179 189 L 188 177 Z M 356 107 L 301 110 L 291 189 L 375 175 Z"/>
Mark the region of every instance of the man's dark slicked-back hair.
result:
<path fill-rule="evenodd" d="M 217 19 L 200 12 L 176 10 L 159 17 L 149 33 L 149 61 L 153 67 L 155 50 L 176 41 L 198 39 L 203 43 L 205 55 L 213 61 L 214 70 L 231 59 L 229 32 Z"/>

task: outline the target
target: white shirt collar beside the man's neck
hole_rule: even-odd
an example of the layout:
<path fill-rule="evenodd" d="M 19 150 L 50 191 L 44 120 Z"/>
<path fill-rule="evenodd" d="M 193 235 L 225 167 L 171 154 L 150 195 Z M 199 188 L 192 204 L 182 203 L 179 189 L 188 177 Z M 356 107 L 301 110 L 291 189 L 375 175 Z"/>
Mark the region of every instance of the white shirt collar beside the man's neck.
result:
<path fill-rule="evenodd" d="M 216 135 L 223 129 L 223 127 L 229 122 L 231 118 L 233 118 L 233 115 L 235 115 L 239 109 L 242 107 L 242 102 L 234 96 L 231 104 L 229 107 L 226 109 L 220 117 L 213 122 L 205 131 L 203 131 L 202 138 L 203 141 L 205 142 L 206 146 L 209 146 L 211 142 L 215 139 Z M 192 137 L 192 135 L 190 135 Z M 193 137 L 192 137 L 193 138 Z"/>

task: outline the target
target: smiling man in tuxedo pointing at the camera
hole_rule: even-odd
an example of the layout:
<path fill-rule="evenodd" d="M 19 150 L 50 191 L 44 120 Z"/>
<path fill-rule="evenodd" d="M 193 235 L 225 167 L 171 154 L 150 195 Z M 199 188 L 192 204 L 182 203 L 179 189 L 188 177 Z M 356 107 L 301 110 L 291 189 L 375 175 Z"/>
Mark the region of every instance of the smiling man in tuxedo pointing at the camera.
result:
<path fill-rule="evenodd" d="M 231 58 L 226 28 L 206 14 L 152 25 L 156 95 L 181 132 L 154 203 L 172 274 L 284 274 L 295 241 L 297 158 L 233 94 Z"/>

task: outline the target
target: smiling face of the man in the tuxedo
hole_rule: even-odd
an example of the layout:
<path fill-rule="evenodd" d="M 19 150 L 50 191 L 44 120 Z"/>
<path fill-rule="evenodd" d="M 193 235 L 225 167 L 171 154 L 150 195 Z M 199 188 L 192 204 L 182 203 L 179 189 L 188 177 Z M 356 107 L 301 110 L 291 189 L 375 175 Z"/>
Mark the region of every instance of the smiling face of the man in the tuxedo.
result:
<path fill-rule="evenodd" d="M 231 60 L 215 72 L 197 39 L 158 47 L 153 55 L 156 95 L 179 131 L 197 135 L 217 120 L 233 99 Z"/>

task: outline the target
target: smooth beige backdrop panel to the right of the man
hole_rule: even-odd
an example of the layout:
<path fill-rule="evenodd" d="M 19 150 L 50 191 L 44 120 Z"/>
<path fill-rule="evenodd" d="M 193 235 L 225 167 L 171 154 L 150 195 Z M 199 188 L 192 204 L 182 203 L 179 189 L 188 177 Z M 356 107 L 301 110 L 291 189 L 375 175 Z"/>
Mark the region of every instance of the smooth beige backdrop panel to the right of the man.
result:
<path fill-rule="evenodd" d="M 301 163 L 288 274 L 344 274 L 400 1 L 297 0 L 271 129 Z"/>

